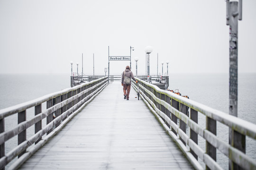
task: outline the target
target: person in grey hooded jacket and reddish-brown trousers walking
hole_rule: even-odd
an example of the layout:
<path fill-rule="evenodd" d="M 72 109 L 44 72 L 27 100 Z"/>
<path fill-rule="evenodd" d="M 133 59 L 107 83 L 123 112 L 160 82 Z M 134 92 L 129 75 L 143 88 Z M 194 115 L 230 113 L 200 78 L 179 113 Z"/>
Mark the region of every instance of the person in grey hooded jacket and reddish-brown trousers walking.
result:
<path fill-rule="evenodd" d="M 138 81 L 134 78 L 133 73 L 129 66 L 126 66 L 125 71 L 122 74 L 122 86 L 124 90 L 124 99 L 129 100 L 129 94 L 131 90 L 131 78 L 138 83 Z"/>

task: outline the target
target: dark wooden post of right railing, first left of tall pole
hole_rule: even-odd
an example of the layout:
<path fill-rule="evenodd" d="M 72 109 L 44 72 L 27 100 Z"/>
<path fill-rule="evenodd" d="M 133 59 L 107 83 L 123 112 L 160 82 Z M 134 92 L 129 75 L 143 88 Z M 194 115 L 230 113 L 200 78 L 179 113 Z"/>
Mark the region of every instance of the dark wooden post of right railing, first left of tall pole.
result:
<path fill-rule="evenodd" d="M 209 130 L 211 133 L 216 135 L 216 120 L 206 117 L 206 129 Z M 216 148 L 211 145 L 209 142 L 206 141 L 206 153 L 216 161 Z M 210 170 L 209 167 L 206 166 L 206 170 Z"/>

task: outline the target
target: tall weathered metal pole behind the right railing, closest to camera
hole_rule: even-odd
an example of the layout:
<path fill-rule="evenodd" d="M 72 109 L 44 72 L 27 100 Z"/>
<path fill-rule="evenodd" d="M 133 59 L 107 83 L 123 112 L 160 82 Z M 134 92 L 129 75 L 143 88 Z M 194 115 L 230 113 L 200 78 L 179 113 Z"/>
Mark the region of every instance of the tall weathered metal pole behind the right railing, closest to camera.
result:
<path fill-rule="evenodd" d="M 227 0 L 227 25 L 229 25 L 229 114 L 238 117 L 238 19 L 242 20 L 242 0 Z M 239 7 L 238 7 L 239 6 Z M 229 128 L 229 144 L 246 152 L 246 137 Z M 240 167 L 229 160 L 229 169 Z"/>

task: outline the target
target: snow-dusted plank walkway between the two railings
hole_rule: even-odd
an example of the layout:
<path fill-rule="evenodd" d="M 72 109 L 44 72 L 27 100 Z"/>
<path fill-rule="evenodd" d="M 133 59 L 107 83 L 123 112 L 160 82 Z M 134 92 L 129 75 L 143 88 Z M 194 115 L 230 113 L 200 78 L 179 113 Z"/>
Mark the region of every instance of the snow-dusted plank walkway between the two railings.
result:
<path fill-rule="evenodd" d="M 110 83 L 23 170 L 192 170 L 145 103 Z"/>

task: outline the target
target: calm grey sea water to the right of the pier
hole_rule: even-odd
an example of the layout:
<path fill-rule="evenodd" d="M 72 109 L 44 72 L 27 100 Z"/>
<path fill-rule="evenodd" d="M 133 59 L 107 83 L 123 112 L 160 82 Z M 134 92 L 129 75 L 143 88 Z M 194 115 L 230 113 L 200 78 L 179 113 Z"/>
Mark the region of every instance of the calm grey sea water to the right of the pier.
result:
<path fill-rule="evenodd" d="M 179 89 L 193 101 L 229 114 L 229 74 L 171 74 L 169 89 Z M 238 118 L 256 124 L 256 73 L 238 74 Z M 198 124 L 205 127 L 205 116 L 198 115 Z M 188 133 L 188 132 L 187 132 Z M 217 136 L 229 143 L 229 128 L 217 122 Z M 205 150 L 205 140 L 198 144 Z M 246 154 L 256 161 L 256 141 L 246 138 Z M 203 165 L 202 161 L 199 160 Z M 228 158 L 217 150 L 217 162 L 228 170 Z"/>

